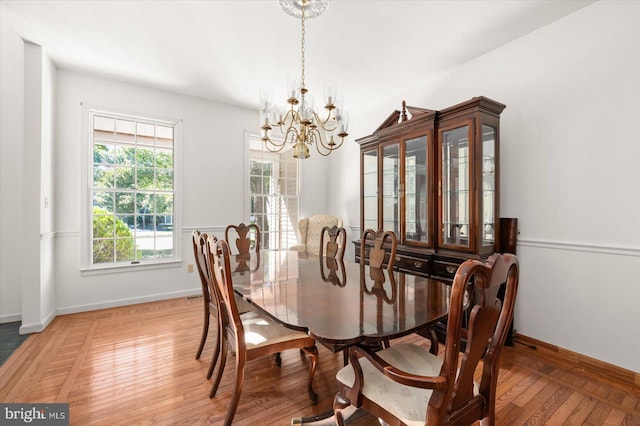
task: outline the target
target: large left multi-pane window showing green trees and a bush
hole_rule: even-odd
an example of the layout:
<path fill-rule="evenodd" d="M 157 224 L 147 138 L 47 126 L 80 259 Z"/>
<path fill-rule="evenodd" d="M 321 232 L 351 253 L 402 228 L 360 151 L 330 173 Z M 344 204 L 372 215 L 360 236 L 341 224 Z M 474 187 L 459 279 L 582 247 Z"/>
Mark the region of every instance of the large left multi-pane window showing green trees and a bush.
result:
<path fill-rule="evenodd" d="M 89 267 L 177 259 L 175 122 L 89 112 Z"/>

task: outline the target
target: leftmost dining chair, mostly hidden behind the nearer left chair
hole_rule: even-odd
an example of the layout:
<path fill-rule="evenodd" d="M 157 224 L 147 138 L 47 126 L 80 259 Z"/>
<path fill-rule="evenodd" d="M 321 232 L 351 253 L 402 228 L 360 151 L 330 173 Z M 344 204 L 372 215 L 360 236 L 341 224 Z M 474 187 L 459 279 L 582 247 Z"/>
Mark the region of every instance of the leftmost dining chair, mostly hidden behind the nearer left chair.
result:
<path fill-rule="evenodd" d="M 215 288 L 213 288 L 212 283 L 209 279 L 209 266 L 207 265 L 205 256 L 206 242 L 208 238 L 209 236 L 206 233 L 201 233 L 197 229 L 191 234 L 191 241 L 193 243 L 193 256 L 196 261 L 196 267 L 198 268 L 198 275 L 200 276 L 200 284 L 202 285 L 202 300 L 204 302 L 204 321 L 202 326 L 202 336 L 200 337 L 200 345 L 198 345 L 198 351 L 196 352 L 196 359 L 200 359 L 202 350 L 204 349 L 204 344 L 207 340 L 207 336 L 209 335 L 210 318 L 215 318 L 217 324 L 215 346 L 213 348 L 211 365 L 209 366 L 209 371 L 207 373 L 207 378 L 211 378 L 213 369 L 220 354 L 221 328 L 220 324 L 218 323 L 218 299 L 213 293 L 215 291 Z M 211 236 L 211 239 L 213 241 L 217 241 L 217 238 L 214 235 Z M 241 313 L 250 312 L 255 309 L 252 304 L 242 299 L 242 297 L 240 296 L 237 296 L 236 301 L 238 310 Z"/>

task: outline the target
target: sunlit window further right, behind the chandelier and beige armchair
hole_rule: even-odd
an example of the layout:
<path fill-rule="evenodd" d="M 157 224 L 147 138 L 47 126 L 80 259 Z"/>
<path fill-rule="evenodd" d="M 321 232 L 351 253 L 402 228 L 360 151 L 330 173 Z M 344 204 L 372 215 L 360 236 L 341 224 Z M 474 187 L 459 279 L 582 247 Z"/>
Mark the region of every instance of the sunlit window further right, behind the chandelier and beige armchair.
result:
<path fill-rule="evenodd" d="M 290 150 L 265 150 L 257 136 L 249 137 L 249 204 L 251 223 L 257 223 L 262 232 L 263 249 L 296 244 L 298 162 Z"/>

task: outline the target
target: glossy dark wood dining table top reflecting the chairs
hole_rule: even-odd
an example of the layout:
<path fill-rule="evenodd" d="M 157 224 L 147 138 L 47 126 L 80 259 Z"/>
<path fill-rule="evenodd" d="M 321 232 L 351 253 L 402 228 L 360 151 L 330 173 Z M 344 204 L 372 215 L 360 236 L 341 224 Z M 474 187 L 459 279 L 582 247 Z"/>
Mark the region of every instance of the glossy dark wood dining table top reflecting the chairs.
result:
<path fill-rule="evenodd" d="M 295 251 L 231 256 L 237 293 L 332 351 L 379 343 L 446 318 L 450 286 Z"/>

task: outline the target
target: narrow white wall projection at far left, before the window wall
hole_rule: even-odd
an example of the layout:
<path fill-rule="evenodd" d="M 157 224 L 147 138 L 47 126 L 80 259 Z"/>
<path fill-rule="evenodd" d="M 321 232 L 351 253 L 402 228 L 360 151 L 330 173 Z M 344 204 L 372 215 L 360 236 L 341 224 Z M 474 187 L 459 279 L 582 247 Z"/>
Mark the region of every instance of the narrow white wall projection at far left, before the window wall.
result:
<path fill-rule="evenodd" d="M 42 48 L 24 43 L 24 139 L 21 238 L 22 326 L 42 331 L 55 317 L 53 98 L 55 70 Z M 14 266 L 15 267 L 15 266 Z"/>

